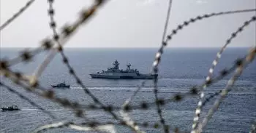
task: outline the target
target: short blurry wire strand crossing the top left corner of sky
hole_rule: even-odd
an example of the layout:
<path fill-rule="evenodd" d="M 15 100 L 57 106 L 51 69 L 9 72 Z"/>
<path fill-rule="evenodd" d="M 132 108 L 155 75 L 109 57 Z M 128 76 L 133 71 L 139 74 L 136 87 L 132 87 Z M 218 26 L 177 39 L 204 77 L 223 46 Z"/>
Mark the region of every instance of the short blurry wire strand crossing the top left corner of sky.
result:
<path fill-rule="evenodd" d="M 6 22 L 4 22 L 4 24 L 2 24 L 2 25 L 0 26 L 0 31 L 3 30 L 4 28 L 6 28 L 7 25 L 9 25 L 10 23 L 12 23 L 13 20 L 15 20 L 15 18 L 17 18 L 18 16 L 20 16 L 20 15 L 21 15 L 26 9 L 28 9 L 28 7 L 29 7 L 31 4 L 33 4 L 33 3 L 34 3 L 34 0 L 28 1 L 28 2 L 25 4 L 24 7 L 21 7 L 18 12 L 16 12 L 14 15 L 12 15 L 12 17 L 10 17 L 10 19 L 8 19 Z"/>

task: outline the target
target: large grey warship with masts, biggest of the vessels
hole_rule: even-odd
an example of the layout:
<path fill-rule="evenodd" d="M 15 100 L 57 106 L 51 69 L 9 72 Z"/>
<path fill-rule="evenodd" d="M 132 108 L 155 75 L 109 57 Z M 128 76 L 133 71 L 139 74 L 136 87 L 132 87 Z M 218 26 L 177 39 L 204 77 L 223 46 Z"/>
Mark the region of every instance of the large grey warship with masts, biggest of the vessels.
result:
<path fill-rule="evenodd" d="M 112 68 L 108 68 L 107 71 L 102 70 L 102 72 L 89 74 L 91 78 L 112 78 L 112 79 L 154 79 L 157 74 L 143 74 L 137 69 L 132 69 L 131 64 L 128 63 L 126 70 L 119 69 L 119 63 L 116 60 L 113 63 Z"/>

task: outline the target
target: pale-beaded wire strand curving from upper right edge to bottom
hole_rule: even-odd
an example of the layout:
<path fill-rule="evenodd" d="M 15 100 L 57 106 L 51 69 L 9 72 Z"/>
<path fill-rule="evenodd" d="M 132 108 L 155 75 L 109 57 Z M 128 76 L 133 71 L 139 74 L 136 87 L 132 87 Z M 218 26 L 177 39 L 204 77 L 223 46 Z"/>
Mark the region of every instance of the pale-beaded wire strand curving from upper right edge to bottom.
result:
<path fill-rule="evenodd" d="M 217 65 L 220 57 L 222 56 L 222 52 L 225 51 L 227 45 L 230 44 L 231 41 L 236 38 L 238 33 L 241 33 L 246 26 L 248 26 L 250 23 L 252 23 L 255 20 L 256 20 L 256 16 L 252 16 L 250 20 L 246 20 L 244 22 L 244 24 L 242 26 L 240 26 L 236 30 L 236 32 L 232 33 L 229 39 L 227 39 L 224 46 L 219 50 L 219 52 L 217 52 L 217 57 L 214 59 L 212 65 L 211 65 L 211 68 L 208 70 L 208 76 L 206 77 L 206 82 L 211 82 L 211 76 L 214 73 L 214 68 Z M 202 90 L 200 91 L 200 100 L 197 103 L 197 108 L 195 110 L 195 117 L 193 119 L 192 132 L 195 132 L 195 129 L 197 128 L 197 124 L 198 124 L 198 120 L 199 120 L 199 116 L 200 116 L 200 112 L 201 112 L 201 106 L 202 106 L 202 103 L 203 103 L 203 97 L 205 96 L 205 93 L 203 91 L 204 91 L 204 89 L 206 89 L 206 87 L 207 87 L 207 84 L 204 85 Z"/>

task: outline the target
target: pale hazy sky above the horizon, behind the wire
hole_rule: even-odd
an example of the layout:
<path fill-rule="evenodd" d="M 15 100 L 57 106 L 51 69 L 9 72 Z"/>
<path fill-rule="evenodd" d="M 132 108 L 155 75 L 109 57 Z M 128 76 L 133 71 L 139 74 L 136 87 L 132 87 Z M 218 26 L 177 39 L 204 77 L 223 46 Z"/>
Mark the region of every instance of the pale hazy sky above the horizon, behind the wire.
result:
<path fill-rule="evenodd" d="M 27 0 L 0 0 L 1 25 Z M 91 0 L 55 0 L 58 28 L 72 23 Z M 168 0 L 111 0 L 65 47 L 159 47 Z M 173 0 L 167 33 L 190 17 L 211 12 L 255 8 L 255 0 Z M 47 0 L 36 0 L 23 15 L 1 31 L 1 47 L 37 47 L 52 34 Z M 168 47 L 220 47 L 238 26 L 255 12 L 211 17 L 192 24 L 173 37 Z M 230 47 L 256 43 L 255 23 L 233 40 Z"/>

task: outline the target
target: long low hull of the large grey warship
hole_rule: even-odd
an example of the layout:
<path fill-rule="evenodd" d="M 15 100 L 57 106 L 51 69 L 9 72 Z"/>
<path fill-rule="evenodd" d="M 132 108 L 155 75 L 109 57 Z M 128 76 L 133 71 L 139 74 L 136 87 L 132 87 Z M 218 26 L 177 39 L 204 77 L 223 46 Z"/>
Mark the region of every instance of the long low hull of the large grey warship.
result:
<path fill-rule="evenodd" d="M 91 78 L 109 78 L 109 79 L 154 79 L 154 75 L 140 75 L 140 76 L 118 76 L 118 75 L 102 75 L 90 74 Z"/>

